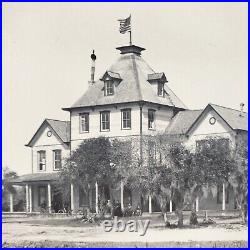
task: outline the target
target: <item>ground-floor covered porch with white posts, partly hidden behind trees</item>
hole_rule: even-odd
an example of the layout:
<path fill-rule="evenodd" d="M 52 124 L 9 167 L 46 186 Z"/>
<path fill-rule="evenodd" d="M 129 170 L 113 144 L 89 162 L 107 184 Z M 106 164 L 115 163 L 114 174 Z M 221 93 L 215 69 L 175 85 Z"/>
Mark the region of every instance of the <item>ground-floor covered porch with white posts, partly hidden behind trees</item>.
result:
<path fill-rule="evenodd" d="M 65 208 L 70 212 L 77 213 L 79 210 L 89 208 L 90 211 L 99 213 L 99 206 L 101 195 L 103 195 L 101 185 L 95 183 L 90 189 L 89 193 L 85 193 L 78 185 L 71 184 L 69 186 L 69 203 L 63 204 L 63 199 L 60 196 L 56 186 L 59 182 L 59 173 L 35 173 L 23 175 L 18 178 L 10 180 L 11 185 L 23 186 L 25 189 L 25 206 L 26 213 L 58 213 L 65 211 Z M 160 212 L 159 204 L 151 197 L 144 197 L 142 199 L 139 194 L 134 190 L 130 191 L 121 181 L 118 184 L 118 188 L 112 190 L 112 199 L 115 202 L 119 202 L 121 209 L 124 210 L 130 204 L 135 209 L 138 204 L 142 205 L 143 212 L 154 213 Z M 207 198 L 196 199 L 195 208 L 199 210 L 232 210 L 234 207 L 234 199 L 230 194 L 228 203 L 226 199 L 226 188 L 225 184 L 222 184 L 221 190 L 221 202 L 217 204 L 216 201 L 208 201 Z M 229 193 L 229 192 L 228 192 Z M 110 200 L 111 195 L 107 192 L 105 199 Z M 9 212 L 17 212 L 13 209 L 13 194 L 9 196 L 10 210 Z M 210 207 L 208 207 L 210 204 Z M 213 206 L 212 206 L 212 205 Z M 167 204 L 167 211 L 173 212 L 175 210 L 174 203 L 172 201 Z"/>

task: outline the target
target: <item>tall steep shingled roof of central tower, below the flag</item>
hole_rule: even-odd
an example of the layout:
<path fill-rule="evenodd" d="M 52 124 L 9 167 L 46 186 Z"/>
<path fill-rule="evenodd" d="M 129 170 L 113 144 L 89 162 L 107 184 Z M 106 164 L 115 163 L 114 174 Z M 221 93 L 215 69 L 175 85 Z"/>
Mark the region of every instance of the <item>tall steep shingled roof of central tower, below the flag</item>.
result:
<path fill-rule="evenodd" d="M 133 50 L 131 49 L 131 51 Z M 98 80 L 91 84 L 82 97 L 70 108 L 64 108 L 64 110 L 138 101 L 186 109 L 183 102 L 175 96 L 167 84 L 165 84 L 165 91 L 168 95 L 165 98 L 157 95 L 148 81 L 148 75 L 155 74 L 156 72 L 139 54 L 132 53 L 131 51 L 130 53 L 120 55 L 117 62 L 107 70 L 107 72 L 119 74 L 122 79 L 116 86 L 114 95 L 104 96 L 103 81 Z"/>

